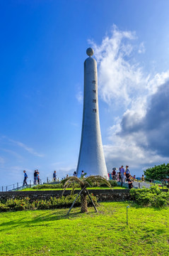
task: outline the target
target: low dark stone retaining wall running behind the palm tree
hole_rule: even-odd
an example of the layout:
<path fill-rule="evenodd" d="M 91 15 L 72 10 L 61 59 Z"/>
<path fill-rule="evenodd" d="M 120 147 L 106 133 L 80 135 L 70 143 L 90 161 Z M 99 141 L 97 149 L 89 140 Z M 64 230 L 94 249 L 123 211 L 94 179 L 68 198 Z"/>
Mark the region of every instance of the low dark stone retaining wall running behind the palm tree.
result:
<path fill-rule="evenodd" d="M 79 193 L 80 190 L 74 191 Z M 51 197 L 59 198 L 62 196 L 63 191 L 11 191 L 0 192 L 0 201 L 6 201 L 10 198 L 25 198 L 29 197 L 30 201 L 38 199 L 47 200 Z M 64 196 L 70 195 L 71 191 L 65 191 Z M 98 201 L 128 201 L 131 200 L 129 189 L 90 189 L 89 193 L 97 196 Z"/>

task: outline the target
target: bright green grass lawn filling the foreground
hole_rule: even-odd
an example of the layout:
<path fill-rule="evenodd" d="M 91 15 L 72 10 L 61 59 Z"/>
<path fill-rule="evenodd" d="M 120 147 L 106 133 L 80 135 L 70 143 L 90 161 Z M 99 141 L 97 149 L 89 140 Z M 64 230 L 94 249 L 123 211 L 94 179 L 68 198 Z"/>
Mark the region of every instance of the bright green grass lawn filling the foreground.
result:
<path fill-rule="evenodd" d="M 0 213 L 0 255 L 169 255 L 169 208 L 115 202 L 100 203 L 98 213 L 67 210 Z"/>

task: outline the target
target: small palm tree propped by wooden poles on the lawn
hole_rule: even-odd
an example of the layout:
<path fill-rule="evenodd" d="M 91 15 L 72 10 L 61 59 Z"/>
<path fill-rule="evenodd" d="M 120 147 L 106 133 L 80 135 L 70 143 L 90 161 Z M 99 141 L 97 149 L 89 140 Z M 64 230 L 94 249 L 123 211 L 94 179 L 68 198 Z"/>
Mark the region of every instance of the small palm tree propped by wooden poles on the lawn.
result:
<path fill-rule="evenodd" d="M 76 176 L 71 176 L 71 177 L 65 178 L 62 181 L 62 183 L 64 184 L 64 191 L 66 190 L 66 188 L 69 188 L 69 186 L 71 186 L 72 183 L 78 183 L 78 185 L 80 186 L 81 191 L 80 191 L 80 193 L 78 193 L 78 196 L 81 196 L 81 213 L 88 212 L 87 196 L 89 196 L 89 198 L 91 199 L 91 196 L 87 190 L 88 186 L 93 186 L 93 185 L 99 186 L 100 183 L 105 183 L 105 185 L 107 185 L 108 187 L 111 188 L 110 182 L 107 181 L 102 176 L 88 176 L 87 178 L 83 178 L 83 176 L 81 176 L 81 178 L 78 178 Z M 76 199 L 78 198 L 78 196 L 76 197 Z M 75 201 L 74 201 L 74 203 L 75 203 Z M 92 201 L 92 199 L 91 199 L 91 201 Z M 71 206 L 71 208 L 74 206 L 74 203 Z M 93 203 L 93 201 L 92 201 L 92 203 Z M 94 206 L 94 203 L 93 203 L 93 206 Z M 70 210 L 71 210 L 71 208 L 70 208 Z M 70 210 L 69 210 L 69 212 L 70 212 Z"/>

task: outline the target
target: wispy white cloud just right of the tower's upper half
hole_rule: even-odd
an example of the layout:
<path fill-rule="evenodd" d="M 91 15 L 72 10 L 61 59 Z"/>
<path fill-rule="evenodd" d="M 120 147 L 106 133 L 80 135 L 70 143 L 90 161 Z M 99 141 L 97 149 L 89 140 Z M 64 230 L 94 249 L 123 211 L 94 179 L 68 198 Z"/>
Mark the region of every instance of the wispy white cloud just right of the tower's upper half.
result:
<path fill-rule="evenodd" d="M 135 52 L 134 40 L 134 32 L 119 31 L 114 26 L 112 35 L 104 38 L 100 46 L 90 41 L 98 60 L 100 96 L 109 105 L 112 101 L 125 107 L 131 104 L 148 80 L 139 63 L 130 57 Z"/>

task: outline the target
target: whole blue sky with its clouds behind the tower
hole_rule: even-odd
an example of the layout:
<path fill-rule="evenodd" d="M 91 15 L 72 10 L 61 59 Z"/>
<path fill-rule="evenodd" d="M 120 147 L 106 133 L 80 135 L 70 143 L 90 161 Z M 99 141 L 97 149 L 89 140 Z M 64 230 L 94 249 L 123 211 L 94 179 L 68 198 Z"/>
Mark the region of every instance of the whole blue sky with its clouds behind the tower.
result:
<path fill-rule="evenodd" d="M 0 0 L 0 186 L 76 169 L 83 62 L 98 61 L 107 169 L 168 162 L 169 2 Z"/>

